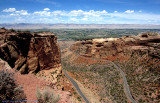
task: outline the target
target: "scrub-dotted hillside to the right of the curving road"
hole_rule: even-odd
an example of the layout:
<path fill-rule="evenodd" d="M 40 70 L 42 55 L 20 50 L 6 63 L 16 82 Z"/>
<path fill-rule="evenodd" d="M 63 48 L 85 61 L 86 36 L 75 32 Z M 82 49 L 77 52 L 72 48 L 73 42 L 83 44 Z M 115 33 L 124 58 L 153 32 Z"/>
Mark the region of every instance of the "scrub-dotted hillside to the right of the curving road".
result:
<path fill-rule="evenodd" d="M 160 60 L 152 57 L 149 52 L 135 51 L 131 55 L 130 60 L 117 61 L 117 64 L 126 73 L 133 97 L 140 103 L 149 103 L 153 100 L 154 103 L 158 103 L 156 90 L 160 86 Z"/>

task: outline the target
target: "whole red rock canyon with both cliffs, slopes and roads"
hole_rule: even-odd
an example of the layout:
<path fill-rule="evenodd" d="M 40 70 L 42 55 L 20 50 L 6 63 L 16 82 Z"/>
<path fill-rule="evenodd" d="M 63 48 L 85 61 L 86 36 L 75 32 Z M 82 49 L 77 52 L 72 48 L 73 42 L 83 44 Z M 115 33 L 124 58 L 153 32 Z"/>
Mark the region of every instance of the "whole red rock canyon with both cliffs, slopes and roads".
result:
<path fill-rule="evenodd" d="M 84 102 L 80 95 L 85 95 L 83 98 L 87 99 L 84 100 L 91 103 L 158 103 L 159 51 L 160 34 L 153 32 L 120 38 L 57 41 L 51 32 L 0 29 L 1 69 L 14 70 L 25 93 L 28 93 L 26 83 L 29 78 L 35 81 L 31 84 L 40 81 L 56 91 L 58 88 L 60 91 L 56 93 L 69 98 L 61 97 L 60 101 L 64 100 L 64 103 L 70 102 L 71 97 L 76 102 Z M 37 85 L 41 86 L 41 83 L 37 82 Z M 80 95 L 75 91 L 77 87 L 82 90 L 78 90 Z M 126 90 L 132 100 L 128 99 Z"/>

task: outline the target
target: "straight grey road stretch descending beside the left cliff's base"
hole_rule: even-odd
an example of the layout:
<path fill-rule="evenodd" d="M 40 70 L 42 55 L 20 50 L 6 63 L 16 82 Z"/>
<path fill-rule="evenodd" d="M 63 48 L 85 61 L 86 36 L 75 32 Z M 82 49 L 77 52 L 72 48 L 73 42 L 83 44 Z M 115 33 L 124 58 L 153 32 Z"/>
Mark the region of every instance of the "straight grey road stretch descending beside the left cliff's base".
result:
<path fill-rule="evenodd" d="M 85 97 L 85 95 L 80 90 L 78 84 L 72 79 L 72 77 L 70 77 L 68 75 L 68 73 L 65 70 L 62 70 L 62 71 L 63 71 L 64 75 L 70 80 L 70 82 L 72 83 L 72 85 L 76 88 L 76 90 L 78 91 L 79 95 L 84 99 L 84 101 L 86 103 L 89 103 L 88 99 Z"/>

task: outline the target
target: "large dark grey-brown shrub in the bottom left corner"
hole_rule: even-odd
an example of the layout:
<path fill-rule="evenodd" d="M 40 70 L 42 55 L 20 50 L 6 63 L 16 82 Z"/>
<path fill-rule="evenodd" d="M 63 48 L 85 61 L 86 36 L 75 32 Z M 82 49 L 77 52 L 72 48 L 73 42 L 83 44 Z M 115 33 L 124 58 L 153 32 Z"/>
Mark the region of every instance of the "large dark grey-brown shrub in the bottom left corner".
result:
<path fill-rule="evenodd" d="M 2 101 L 22 101 L 26 98 L 22 87 L 15 83 L 13 73 L 0 71 L 0 102 Z"/>

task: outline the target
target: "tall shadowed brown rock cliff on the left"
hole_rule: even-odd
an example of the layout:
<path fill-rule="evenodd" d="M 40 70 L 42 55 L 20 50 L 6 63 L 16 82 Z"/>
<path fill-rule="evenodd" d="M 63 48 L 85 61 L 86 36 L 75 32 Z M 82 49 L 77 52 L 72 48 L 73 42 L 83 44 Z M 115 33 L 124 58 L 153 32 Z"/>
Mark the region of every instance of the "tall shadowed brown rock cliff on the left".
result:
<path fill-rule="evenodd" d="M 12 68 L 22 74 L 54 68 L 61 72 L 60 50 L 54 34 L 0 31 L 0 35 L 5 36 L 0 44 L 0 58 Z"/>

